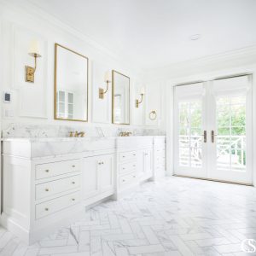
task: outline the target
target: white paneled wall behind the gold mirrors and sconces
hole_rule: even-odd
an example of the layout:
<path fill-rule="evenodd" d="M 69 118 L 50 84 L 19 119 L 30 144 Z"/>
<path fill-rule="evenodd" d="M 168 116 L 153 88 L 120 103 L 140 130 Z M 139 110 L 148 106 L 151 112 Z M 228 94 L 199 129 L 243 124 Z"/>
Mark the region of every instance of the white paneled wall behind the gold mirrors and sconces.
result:
<path fill-rule="evenodd" d="M 2 29 L 3 65 L 2 90 L 12 94 L 11 103 L 3 103 L 3 126 L 10 123 L 47 123 L 71 125 L 67 121 L 54 120 L 54 44 L 58 43 L 73 49 L 89 58 L 89 123 L 74 123 L 74 125 L 111 125 L 111 86 L 105 98 L 98 98 L 98 89 L 106 88 L 104 73 L 107 70 L 117 70 L 131 78 L 131 125 L 159 125 L 150 124 L 145 119 L 146 108 L 156 108 L 146 104 L 160 104 L 160 90 L 150 89 L 147 85 L 147 95 L 140 108 L 135 108 L 135 100 L 139 97 L 139 90 L 143 85 L 140 70 L 133 63 L 119 60 L 108 49 L 97 44 L 73 28 L 62 24 L 59 20 L 43 13 L 38 9 L 30 9 L 9 5 L 0 0 L 0 19 Z M 33 65 L 33 58 L 28 55 L 31 39 L 40 42 L 42 57 L 38 58 L 38 68 L 35 73 L 35 83 L 25 82 L 25 66 Z M 135 63 L 136 64 L 136 63 Z M 110 84 L 111 85 L 111 84 Z M 145 85 L 143 85 L 145 86 Z M 154 93 L 154 101 L 147 100 L 150 93 Z M 157 94 L 157 96 L 156 96 Z"/>

